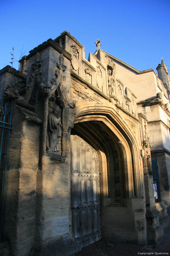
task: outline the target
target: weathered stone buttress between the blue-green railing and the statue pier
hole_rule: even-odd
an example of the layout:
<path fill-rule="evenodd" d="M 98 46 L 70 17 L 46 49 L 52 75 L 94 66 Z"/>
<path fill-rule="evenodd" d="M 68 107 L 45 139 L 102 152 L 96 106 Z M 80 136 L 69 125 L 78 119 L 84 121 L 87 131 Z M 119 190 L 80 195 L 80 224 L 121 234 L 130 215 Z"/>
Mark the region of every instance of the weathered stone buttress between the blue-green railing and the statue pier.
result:
<path fill-rule="evenodd" d="M 4 221 L 4 234 L 11 241 L 14 255 L 28 255 L 35 242 L 40 127 L 24 119 L 14 103 Z"/>

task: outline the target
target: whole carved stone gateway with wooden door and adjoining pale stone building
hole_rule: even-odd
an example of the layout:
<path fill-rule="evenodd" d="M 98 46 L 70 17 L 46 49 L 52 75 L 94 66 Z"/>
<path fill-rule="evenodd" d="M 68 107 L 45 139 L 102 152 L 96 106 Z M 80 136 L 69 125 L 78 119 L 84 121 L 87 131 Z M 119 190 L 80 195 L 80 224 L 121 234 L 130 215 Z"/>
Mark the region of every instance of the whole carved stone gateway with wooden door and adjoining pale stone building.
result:
<path fill-rule="evenodd" d="M 20 71 L 0 70 L 13 104 L 3 239 L 14 256 L 71 256 L 100 239 L 153 244 L 169 225 L 167 68 L 159 79 L 95 44 L 86 60 L 64 31 Z"/>

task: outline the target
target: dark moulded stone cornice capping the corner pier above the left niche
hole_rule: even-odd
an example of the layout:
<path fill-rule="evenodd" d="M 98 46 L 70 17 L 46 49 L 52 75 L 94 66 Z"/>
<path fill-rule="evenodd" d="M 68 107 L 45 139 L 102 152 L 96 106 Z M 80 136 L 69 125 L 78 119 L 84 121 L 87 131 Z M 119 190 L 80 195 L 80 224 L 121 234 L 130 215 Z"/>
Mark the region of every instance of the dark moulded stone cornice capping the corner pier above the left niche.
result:
<path fill-rule="evenodd" d="M 37 47 L 35 47 L 33 50 L 29 51 L 29 55 L 26 57 L 26 59 L 28 60 L 30 57 L 32 57 L 33 55 L 35 55 L 37 52 L 41 52 L 41 50 L 47 48 L 48 46 L 51 46 L 52 48 L 54 48 L 55 50 L 57 50 L 59 53 L 63 53 L 64 57 L 66 57 L 67 59 L 71 60 L 71 54 L 66 52 L 66 50 L 64 50 L 63 48 L 61 48 L 56 42 L 54 42 L 54 40 L 52 40 L 51 38 L 48 39 L 46 42 L 43 42 L 42 44 L 38 45 Z"/>

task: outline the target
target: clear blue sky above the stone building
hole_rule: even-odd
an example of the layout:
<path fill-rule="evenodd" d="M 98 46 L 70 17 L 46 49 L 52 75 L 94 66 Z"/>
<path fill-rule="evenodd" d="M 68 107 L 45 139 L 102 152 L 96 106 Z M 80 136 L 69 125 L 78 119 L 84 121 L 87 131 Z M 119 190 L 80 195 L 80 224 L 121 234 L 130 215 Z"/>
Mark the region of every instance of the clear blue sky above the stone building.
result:
<path fill-rule="evenodd" d="M 64 30 L 94 53 L 101 48 L 133 67 L 156 69 L 161 57 L 170 74 L 170 0 L 1 0 L 0 69 Z M 13 67 L 18 69 L 15 60 Z"/>

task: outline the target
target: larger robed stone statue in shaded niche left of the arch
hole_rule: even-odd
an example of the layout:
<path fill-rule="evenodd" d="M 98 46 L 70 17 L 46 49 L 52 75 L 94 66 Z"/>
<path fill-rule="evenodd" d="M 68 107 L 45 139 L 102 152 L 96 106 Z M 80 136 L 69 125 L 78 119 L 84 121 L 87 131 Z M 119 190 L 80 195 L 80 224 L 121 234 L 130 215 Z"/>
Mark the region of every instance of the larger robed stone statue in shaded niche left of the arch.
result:
<path fill-rule="evenodd" d="M 59 106 L 53 108 L 52 113 L 48 115 L 47 128 L 47 152 L 54 151 L 60 153 L 59 144 L 61 139 L 61 120 L 58 118 Z"/>

